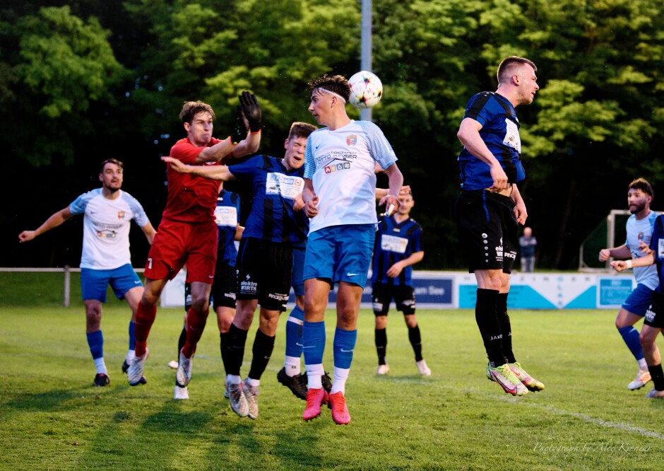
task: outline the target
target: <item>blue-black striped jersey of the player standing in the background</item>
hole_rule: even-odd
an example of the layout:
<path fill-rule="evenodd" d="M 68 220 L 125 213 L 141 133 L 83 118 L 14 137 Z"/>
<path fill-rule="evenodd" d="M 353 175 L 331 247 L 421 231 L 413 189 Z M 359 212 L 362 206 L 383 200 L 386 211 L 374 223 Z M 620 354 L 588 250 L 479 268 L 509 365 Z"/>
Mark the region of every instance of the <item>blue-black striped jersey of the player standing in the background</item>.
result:
<path fill-rule="evenodd" d="M 378 221 L 374 260 L 372 262 L 372 283 L 413 286 L 413 266 L 401 270 L 396 278 L 387 276 L 387 270 L 396 262 L 404 260 L 422 248 L 422 226 L 415 219 L 408 218 L 397 223 L 394 216 L 382 214 Z"/>

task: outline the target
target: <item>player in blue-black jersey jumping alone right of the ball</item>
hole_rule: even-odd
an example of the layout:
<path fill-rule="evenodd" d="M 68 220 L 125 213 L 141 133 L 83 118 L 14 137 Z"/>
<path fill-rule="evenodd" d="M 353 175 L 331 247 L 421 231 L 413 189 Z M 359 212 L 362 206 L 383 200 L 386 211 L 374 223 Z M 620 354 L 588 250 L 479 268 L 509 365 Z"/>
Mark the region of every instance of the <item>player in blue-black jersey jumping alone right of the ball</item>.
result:
<path fill-rule="evenodd" d="M 457 137 L 463 144 L 458 163 L 462 192 L 456 199 L 458 238 L 475 274 L 477 320 L 487 351 L 487 378 L 511 395 L 544 385 L 521 368 L 512 351 L 507 315 L 509 274 L 518 248 L 518 224 L 528 213 L 517 182 L 526 178 L 515 108 L 533 103 L 540 86 L 537 66 L 510 56 L 498 66 L 498 88 L 468 101 Z"/>

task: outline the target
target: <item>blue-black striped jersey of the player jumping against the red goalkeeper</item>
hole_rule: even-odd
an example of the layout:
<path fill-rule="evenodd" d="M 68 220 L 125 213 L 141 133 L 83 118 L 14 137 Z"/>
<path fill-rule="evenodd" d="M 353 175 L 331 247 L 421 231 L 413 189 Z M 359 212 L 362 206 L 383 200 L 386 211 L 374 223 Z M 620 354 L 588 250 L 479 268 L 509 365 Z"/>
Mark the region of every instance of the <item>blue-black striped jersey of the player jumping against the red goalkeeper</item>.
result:
<path fill-rule="evenodd" d="M 238 180 L 251 182 L 253 201 L 244 223 L 242 238 L 257 238 L 304 246 L 309 234 L 309 218 L 293 203 L 304 189 L 304 168 L 288 171 L 280 158 L 254 156 L 229 165 Z"/>

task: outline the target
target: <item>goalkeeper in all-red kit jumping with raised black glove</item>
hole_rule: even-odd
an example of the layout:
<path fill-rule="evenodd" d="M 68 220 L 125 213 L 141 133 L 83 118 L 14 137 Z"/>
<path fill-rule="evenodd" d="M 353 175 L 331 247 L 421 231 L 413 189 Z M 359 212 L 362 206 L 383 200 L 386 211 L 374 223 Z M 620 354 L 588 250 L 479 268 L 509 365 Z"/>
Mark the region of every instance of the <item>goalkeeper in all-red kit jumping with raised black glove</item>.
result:
<path fill-rule="evenodd" d="M 247 91 L 239 96 L 239 112 L 247 136 L 237 144 L 229 136 L 220 141 L 212 136 L 215 113 L 201 101 L 184 103 L 180 118 L 186 138 L 170 151 L 190 165 L 220 165 L 232 157 L 254 153 L 261 143 L 261 107 Z M 217 258 L 217 225 L 214 210 L 219 182 L 177 173 L 169 168 L 168 197 L 146 262 L 146 285 L 136 312 L 136 359 L 129 365 L 127 380 L 132 386 L 143 383 L 143 366 L 148 358 L 147 341 L 157 315 L 157 302 L 166 283 L 186 263 L 186 281 L 191 284 L 191 308 L 186 313 L 186 342 L 179 354 L 176 382 L 184 387 L 191 379 L 191 359 L 203 334 Z"/>

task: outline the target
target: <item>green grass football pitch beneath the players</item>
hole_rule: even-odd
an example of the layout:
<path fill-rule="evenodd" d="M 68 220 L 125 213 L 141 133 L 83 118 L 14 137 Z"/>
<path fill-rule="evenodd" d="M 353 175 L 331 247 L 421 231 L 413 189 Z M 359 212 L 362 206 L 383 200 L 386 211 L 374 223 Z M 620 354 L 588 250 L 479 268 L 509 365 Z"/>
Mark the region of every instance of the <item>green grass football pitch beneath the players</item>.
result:
<path fill-rule="evenodd" d="M 512 311 L 517 359 L 547 388 L 511 397 L 485 378 L 485 353 L 471 311 L 418 311 L 433 371 L 422 378 L 396 312 L 388 327 L 391 371 L 375 375 L 373 315 L 363 310 L 346 390 L 348 426 L 334 424 L 327 409 L 314 421 L 302 421 L 304 402 L 277 382 L 283 318 L 262 378 L 260 416 L 252 421 L 237 417 L 223 398 L 213 319 L 198 346 L 191 399 L 172 399 L 174 371 L 167 363 L 176 359 L 180 309 L 158 311 L 148 342 L 148 384 L 131 388 L 120 371 L 129 309 L 109 300 L 102 327 L 111 384 L 94 388 L 78 279 L 72 281 L 72 306 L 63 308 L 61 284 L 53 285 L 52 276 L 22 274 L 18 284 L 16 274 L 0 276 L 1 469 L 661 467 L 664 401 L 646 400 L 651 384 L 627 390 L 636 364 L 615 330 L 612 311 Z M 328 311 L 327 369 L 333 317 Z"/>

